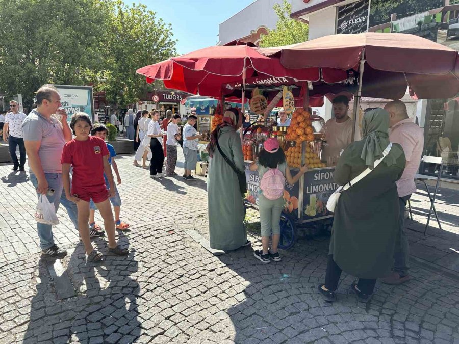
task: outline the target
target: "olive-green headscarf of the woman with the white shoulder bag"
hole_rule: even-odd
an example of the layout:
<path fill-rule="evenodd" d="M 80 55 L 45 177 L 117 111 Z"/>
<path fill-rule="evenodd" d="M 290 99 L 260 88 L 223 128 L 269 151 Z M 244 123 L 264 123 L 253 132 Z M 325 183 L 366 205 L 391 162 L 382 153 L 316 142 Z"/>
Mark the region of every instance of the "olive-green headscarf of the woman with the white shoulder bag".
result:
<path fill-rule="evenodd" d="M 389 113 L 384 109 L 373 109 L 365 113 L 362 119 L 362 135 L 365 145 L 360 157 L 370 169 L 374 161 L 381 158 L 382 151 L 389 145 Z M 391 166 L 398 156 L 388 155 L 382 162 Z"/>

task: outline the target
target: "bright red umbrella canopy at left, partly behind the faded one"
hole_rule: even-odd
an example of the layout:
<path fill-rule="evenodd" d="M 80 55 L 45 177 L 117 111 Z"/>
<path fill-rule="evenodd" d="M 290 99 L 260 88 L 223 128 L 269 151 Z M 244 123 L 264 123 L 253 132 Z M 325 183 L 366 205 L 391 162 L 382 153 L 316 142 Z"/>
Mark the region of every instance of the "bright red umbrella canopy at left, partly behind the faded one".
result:
<path fill-rule="evenodd" d="M 240 82 L 254 76 L 295 77 L 297 80 L 320 80 L 318 68 L 287 69 L 279 59 L 260 54 L 247 45 L 211 46 L 163 62 L 142 67 L 137 73 L 147 82 L 164 80 L 173 88 L 219 97 L 223 83 Z M 341 71 L 337 71 L 339 79 Z"/>

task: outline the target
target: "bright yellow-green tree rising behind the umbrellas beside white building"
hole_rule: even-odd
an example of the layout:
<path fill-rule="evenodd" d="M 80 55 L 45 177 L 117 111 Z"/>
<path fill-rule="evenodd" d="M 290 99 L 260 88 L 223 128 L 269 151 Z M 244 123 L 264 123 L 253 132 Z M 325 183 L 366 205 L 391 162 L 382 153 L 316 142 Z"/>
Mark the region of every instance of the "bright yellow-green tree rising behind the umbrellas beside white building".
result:
<path fill-rule="evenodd" d="M 277 14 L 275 29 L 268 29 L 268 34 L 261 36 L 260 46 L 267 48 L 294 43 L 301 43 L 308 40 L 309 25 L 290 18 L 292 5 L 283 0 L 281 4 L 274 4 L 274 12 Z"/>

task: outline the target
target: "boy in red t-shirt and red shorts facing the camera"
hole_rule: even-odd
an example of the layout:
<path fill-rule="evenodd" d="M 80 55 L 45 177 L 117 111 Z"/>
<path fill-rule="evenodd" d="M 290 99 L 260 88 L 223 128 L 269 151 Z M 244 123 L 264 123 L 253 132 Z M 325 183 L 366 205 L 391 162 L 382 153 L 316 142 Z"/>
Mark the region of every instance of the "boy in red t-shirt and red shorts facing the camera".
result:
<path fill-rule="evenodd" d="M 104 219 L 105 230 L 109 239 L 110 252 L 126 255 L 127 249 L 121 248 L 115 241 L 115 221 L 109 197 L 115 196 L 115 183 L 108 162 L 109 151 L 104 140 L 89 136 L 92 128 L 89 116 L 82 112 L 73 115 L 70 128 L 76 137 L 67 142 L 62 152 L 62 179 L 67 199 L 77 203 L 78 231 L 85 245 L 88 261 L 99 261 L 102 254 L 92 247 L 89 239 L 89 201 L 94 200 L 100 215 Z M 73 167 L 72 190 L 70 191 L 70 167 Z M 105 186 L 104 172 L 109 180 L 110 190 Z"/>

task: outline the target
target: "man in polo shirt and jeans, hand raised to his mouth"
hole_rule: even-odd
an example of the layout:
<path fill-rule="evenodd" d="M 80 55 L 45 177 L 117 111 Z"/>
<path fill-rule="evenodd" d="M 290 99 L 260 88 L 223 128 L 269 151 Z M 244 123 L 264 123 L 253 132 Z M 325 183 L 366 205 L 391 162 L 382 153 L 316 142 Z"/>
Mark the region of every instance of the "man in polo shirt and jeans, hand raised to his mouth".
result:
<path fill-rule="evenodd" d="M 61 96 L 54 86 L 40 87 L 35 97 L 37 108 L 22 122 L 22 136 L 29 158 L 29 178 L 37 196 L 46 195 L 49 202 L 54 203 L 56 212 L 62 204 L 73 225 L 78 228 L 77 205 L 69 201 L 63 192 L 61 155 L 65 143 L 72 139 L 67 113 L 59 109 Z M 55 244 L 52 225 L 37 223 L 37 230 L 43 254 L 53 257 L 67 255 L 66 250 Z M 91 237 L 103 235 L 101 231 L 90 234 Z"/>

